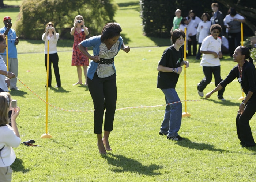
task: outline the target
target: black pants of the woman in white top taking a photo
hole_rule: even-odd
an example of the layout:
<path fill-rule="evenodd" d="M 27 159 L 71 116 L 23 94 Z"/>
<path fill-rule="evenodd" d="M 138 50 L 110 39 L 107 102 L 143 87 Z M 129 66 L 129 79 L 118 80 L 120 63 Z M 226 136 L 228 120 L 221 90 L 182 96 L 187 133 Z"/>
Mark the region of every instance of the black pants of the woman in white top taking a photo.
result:
<path fill-rule="evenodd" d="M 57 86 L 61 87 L 60 84 L 60 72 L 59 72 L 59 56 L 57 53 L 49 54 L 49 78 L 48 78 L 48 87 L 52 87 L 52 65 L 54 69 L 54 74 L 57 82 Z M 45 54 L 45 68 L 47 71 L 47 54 Z"/>

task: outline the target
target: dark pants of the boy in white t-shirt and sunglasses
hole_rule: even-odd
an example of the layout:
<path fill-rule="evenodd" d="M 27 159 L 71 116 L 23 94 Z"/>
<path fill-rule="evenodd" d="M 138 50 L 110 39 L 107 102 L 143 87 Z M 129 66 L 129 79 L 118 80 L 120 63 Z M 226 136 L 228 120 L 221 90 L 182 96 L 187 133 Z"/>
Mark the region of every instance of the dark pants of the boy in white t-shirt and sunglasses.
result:
<path fill-rule="evenodd" d="M 215 80 L 215 86 L 222 81 L 221 78 L 221 66 L 203 66 L 203 72 L 204 72 L 204 78 L 202 81 L 198 84 L 197 90 L 202 92 L 206 86 L 211 83 L 212 80 L 212 74 L 214 75 Z M 225 91 L 225 88 L 222 88 L 218 91 L 218 98 L 223 98 L 223 93 Z"/>

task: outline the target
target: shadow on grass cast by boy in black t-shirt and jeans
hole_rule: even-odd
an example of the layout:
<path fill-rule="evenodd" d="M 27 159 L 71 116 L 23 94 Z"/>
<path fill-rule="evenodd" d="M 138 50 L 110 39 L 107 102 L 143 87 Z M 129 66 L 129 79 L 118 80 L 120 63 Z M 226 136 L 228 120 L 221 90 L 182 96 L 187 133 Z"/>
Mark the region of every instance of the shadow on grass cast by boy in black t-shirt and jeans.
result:
<path fill-rule="evenodd" d="M 189 139 L 185 139 L 184 141 L 177 141 L 177 145 L 182 147 L 187 147 L 189 149 L 196 149 L 196 150 L 210 150 L 213 152 L 225 152 L 225 150 L 222 149 L 216 149 L 214 145 L 210 145 L 207 143 L 196 143 L 191 142 Z"/>

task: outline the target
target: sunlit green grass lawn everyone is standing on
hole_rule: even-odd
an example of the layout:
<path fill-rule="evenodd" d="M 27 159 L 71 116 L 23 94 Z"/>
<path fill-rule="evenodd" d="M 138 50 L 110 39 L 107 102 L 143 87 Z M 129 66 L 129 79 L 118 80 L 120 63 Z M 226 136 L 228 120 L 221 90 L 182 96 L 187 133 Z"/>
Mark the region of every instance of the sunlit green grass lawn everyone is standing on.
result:
<path fill-rule="evenodd" d="M 144 106 L 165 104 L 163 93 L 156 88 L 157 65 L 169 45 L 158 47 L 161 39 L 154 41 L 142 35 L 138 0 L 116 2 L 120 9 L 115 19 L 131 47 L 129 54 L 120 51 L 115 58 L 117 109 L 142 108 L 116 111 L 110 134 L 113 151 L 100 155 L 93 134 L 93 112 L 89 112 L 93 110 L 89 90 L 72 86 L 78 79 L 76 67 L 71 66 L 72 41 L 59 40 L 62 88 L 49 88 L 48 102 L 74 111 L 48 106 L 48 133 L 53 138 L 41 138 L 46 132 L 46 104 L 42 101 L 46 100 L 44 42 L 20 40 L 18 78 L 42 100 L 21 82 L 20 90 L 11 95 L 21 108 L 17 123 L 22 141 L 34 139 L 42 147 L 20 145 L 14 149 L 17 159 L 12 164 L 13 181 L 255 181 L 256 147 L 242 148 L 236 133 L 235 118 L 241 103 L 238 98 L 242 96 L 236 80 L 226 87 L 224 102 L 217 99 L 217 94 L 208 100 L 187 102 L 191 117 L 182 118 L 179 132 L 185 141 L 169 141 L 158 134 L 165 106 Z M 187 100 L 202 99 L 197 94 L 202 67 L 195 59 L 187 60 Z M 222 59 L 222 78 L 235 65 L 228 56 Z M 184 76 L 182 72 L 176 86 L 181 100 L 185 98 Z M 205 94 L 214 87 L 209 84 Z M 182 102 L 183 112 L 184 105 Z M 253 116 L 250 124 L 254 136 L 255 121 Z"/>

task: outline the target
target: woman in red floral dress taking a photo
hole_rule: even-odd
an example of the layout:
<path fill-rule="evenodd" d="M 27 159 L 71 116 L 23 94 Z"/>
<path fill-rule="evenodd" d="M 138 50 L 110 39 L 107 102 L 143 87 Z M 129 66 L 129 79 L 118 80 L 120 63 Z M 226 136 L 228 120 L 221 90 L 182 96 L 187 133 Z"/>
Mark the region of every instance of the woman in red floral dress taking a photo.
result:
<path fill-rule="evenodd" d="M 85 76 L 84 85 L 87 86 L 87 66 L 89 65 L 89 59 L 79 50 L 77 45 L 85 39 L 85 36 L 89 34 L 88 28 L 84 26 L 84 19 L 82 15 L 77 15 L 74 20 L 74 27 L 71 28 L 71 35 L 74 35 L 73 54 L 71 66 L 76 66 L 78 74 L 78 82 L 73 85 L 83 84 L 82 82 L 82 68 Z"/>

